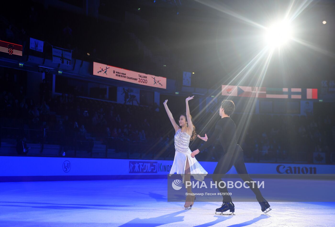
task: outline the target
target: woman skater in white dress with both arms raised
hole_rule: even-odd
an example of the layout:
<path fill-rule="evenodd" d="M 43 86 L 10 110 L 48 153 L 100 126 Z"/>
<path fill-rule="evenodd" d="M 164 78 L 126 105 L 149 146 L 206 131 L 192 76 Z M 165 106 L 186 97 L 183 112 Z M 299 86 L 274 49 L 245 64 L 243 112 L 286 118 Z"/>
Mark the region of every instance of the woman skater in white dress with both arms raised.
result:
<path fill-rule="evenodd" d="M 192 152 L 189 148 L 190 140 L 194 140 L 197 137 L 188 105 L 188 101 L 193 99 L 193 97 L 194 96 L 186 98 L 186 113 L 180 115 L 179 126 L 175 122 L 169 107 L 167 107 L 167 100 L 164 102 L 166 113 L 169 116 L 170 121 L 176 131 L 176 153 L 170 170 L 170 176 L 174 173 L 181 174 L 183 183 L 185 183 L 185 185 L 186 181 L 191 181 L 191 175 L 194 177 L 194 179 L 199 181 L 203 181 L 204 177 L 207 175 L 206 170 L 202 168 L 199 162 L 195 158 L 191 158 Z M 182 128 L 180 128 L 180 126 Z M 192 195 L 192 186 L 187 186 L 186 189 L 188 195 L 186 196 L 184 207 L 185 209 L 191 209 L 195 201 L 195 195 Z"/>

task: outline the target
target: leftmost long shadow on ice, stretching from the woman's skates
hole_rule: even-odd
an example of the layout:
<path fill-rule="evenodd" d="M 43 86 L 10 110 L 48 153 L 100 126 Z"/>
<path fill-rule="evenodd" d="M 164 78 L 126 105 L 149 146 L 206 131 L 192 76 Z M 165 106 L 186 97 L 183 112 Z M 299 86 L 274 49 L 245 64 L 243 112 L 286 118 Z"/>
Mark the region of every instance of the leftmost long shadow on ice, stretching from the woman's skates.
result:
<path fill-rule="evenodd" d="M 160 226 L 160 225 L 164 225 L 164 224 L 170 224 L 170 223 L 174 223 L 174 222 L 182 222 L 184 221 L 184 216 L 178 216 L 179 214 L 182 214 L 184 212 L 186 212 L 188 210 L 181 210 L 175 213 L 171 213 L 171 214 L 164 214 L 158 217 L 154 217 L 154 218 L 144 218 L 144 219 L 140 219 L 140 218 L 135 218 L 123 225 L 120 226 L 146 226 L 146 227 L 154 227 L 154 226 Z"/>

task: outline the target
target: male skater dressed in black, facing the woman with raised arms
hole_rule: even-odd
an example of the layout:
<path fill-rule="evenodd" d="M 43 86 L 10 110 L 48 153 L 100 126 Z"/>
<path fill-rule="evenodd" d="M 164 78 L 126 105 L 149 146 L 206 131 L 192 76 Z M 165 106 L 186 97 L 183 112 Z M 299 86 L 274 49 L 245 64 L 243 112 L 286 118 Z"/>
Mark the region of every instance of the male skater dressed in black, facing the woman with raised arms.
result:
<path fill-rule="evenodd" d="M 235 122 L 229 117 L 235 110 L 235 104 L 231 100 L 223 100 L 220 106 L 219 114 L 221 119 L 217 121 L 213 135 L 208 139 L 207 135 L 205 137 L 199 138 L 207 141 L 199 149 L 192 152 L 191 157 L 194 158 L 200 151 L 211 146 L 217 137 L 220 138 L 221 146 L 224 150 L 224 154 L 219 159 L 214 173 L 213 181 L 216 183 L 217 188 L 222 194 L 223 204 L 220 208 L 216 209 L 216 212 L 225 212 L 230 210 L 230 212 L 235 211 L 235 206 L 231 201 L 230 195 L 228 195 L 228 190 L 226 187 L 220 188 L 218 183 L 222 180 L 224 174 L 226 174 L 232 166 L 235 167 L 239 176 L 244 180 L 248 181 L 247 185 L 255 193 L 257 201 L 261 205 L 261 210 L 267 213 L 271 210 L 269 203 L 263 198 L 259 188 L 254 183 L 250 183 L 253 180 L 249 177 L 246 166 L 243 160 L 243 150 L 236 141 L 236 125 Z M 208 140 L 207 140 L 208 139 Z M 269 210 L 267 210 L 269 209 Z M 266 211 L 267 210 L 267 211 Z"/>

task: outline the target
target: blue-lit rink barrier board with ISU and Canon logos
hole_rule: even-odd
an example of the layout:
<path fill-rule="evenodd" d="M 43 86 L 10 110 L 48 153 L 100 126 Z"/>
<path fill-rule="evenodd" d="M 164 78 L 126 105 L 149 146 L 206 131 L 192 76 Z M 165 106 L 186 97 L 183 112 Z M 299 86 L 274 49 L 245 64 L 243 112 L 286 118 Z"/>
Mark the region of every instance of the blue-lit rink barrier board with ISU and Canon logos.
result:
<path fill-rule="evenodd" d="M 0 156 L 0 181 L 165 178 L 173 161 Z M 216 162 L 199 162 L 210 174 Z M 246 163 L 249 174 L 334 174 L 335 165 Z M 228 174 L 236 174 L 234 167 Z"/>

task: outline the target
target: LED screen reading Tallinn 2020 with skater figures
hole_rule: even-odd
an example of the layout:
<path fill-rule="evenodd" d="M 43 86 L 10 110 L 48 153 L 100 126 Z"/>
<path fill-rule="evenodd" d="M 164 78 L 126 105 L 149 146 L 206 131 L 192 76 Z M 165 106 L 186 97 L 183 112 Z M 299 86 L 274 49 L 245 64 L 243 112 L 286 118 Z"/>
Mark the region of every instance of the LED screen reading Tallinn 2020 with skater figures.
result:
<path fill-rule="evenodd" d="M 166 89 L 166 78 L 93 62 L 93 75 Z"/>

